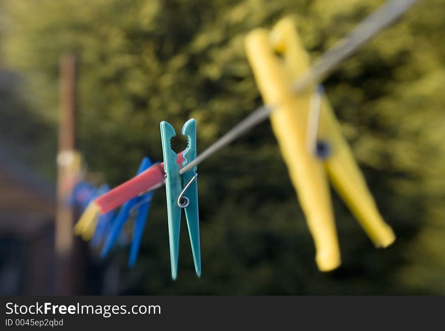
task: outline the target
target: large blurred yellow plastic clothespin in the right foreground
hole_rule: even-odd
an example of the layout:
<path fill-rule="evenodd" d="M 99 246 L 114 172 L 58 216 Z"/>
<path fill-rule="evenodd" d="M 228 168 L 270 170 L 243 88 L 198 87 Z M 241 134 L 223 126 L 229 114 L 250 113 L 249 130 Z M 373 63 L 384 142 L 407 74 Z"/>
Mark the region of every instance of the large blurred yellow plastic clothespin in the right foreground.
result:
<path fill-rule="evenodd" d="M 309 68 L 308 54 L 293 21 L 285 18 L 272 31 L 250 32 L 246 52 L 264 103 L 275 107 L 272 128 L 314 238 L 319 269 L 329 271 L 340 264 L 326 172 L 375 246 L 389 246 L 394 233 L 380 216 L 326 98 L 320 104 L 316 138 L 326 142 L 331 153 L 323 160 L 308 149 L 307 123 L 314 86 L 298 94 L 291 91 L 292 83 Z"/>

